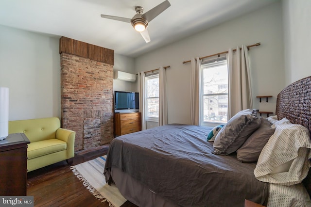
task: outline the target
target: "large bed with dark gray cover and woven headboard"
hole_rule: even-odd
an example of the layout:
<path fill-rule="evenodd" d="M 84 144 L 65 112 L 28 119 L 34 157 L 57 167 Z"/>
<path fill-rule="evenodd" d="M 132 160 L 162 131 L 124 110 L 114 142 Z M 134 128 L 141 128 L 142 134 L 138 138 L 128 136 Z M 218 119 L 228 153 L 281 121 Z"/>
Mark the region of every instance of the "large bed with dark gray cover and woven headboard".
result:
<path fill-rule="evenodd" d="M 282 196 L 291 196 L 276 192 L 283 192 L 283 188 L 292 186 L 297 186 L 295 192 L 301 191 L 302 195 L 299 196 L 302 199 L 310 200 L 311 173 L 308 158 L 311 145 L 308 144 L 311 131 L 311 77 L 296 81 L 280 92 L 277 96 L 276 116 L 275 130 L 279 128 L 278 123 L 279 126 L 288 124 L 283 121 L 288 120 L 295 127 L 298 124 L 306 128 L 306 131 L 302 131 L 308 135 L 305 143 L 306 159 L 302 163 L 305 175 L 291 183 L 279 185 L 274 180 L 271 181 L 270 173 L 256 175 L 256 171 L 259 174 L 262 172 L 258 169 L 259 162 L 261 167 L 265 166 L 264 153 L 259 152 L 258 163 L 242 162 L 237 159 L 239 153 L 234 147 L 230 149 L 230 145 L 229 148 L 222 149 L 217 145 L 221 143 L 217 136 L 224 135 L 231 119 L 219 131 L 214 142 L 207 142 L 207 135 L 212 128 L 181 124 L 155 127 L 115 138 L 107 153 L 104 168 L 106 182 L 114 183 L 126 199 L 141 207 L 243 207 L 245 199 L 264 206 L 277 206 L 284 200 Z M 253 117 L 252 120 L 262 121 L 262 118 Z M 232 118 L 232 123 L 236 123 L 235 121 Z M 259 128 L 255 127 L 248 133 L 254 134 Z M 244 135 L 239 132 L 239 136 Z M 242 141 L 240 137 L 238 140 L 242 144 L 249 139 L 249 135 Z M 295 141 L 289 139 L 289 142 Z M 301 142 L 294 144 L 296 143 Z M 267 144 L 262 152 L 269 150 Z M 290 176 L 287 175 L 288 172 L 281 171 L 276 175 Z M 265 179 L 270 180 L 262 181 Z M 302 179 L 303 185 L 300 183 Z M 297 204 L 296 200 L 289 202 L 292 203 L 286 205 Z M 310 203 L 306 204 L 309 205 Z"/>

